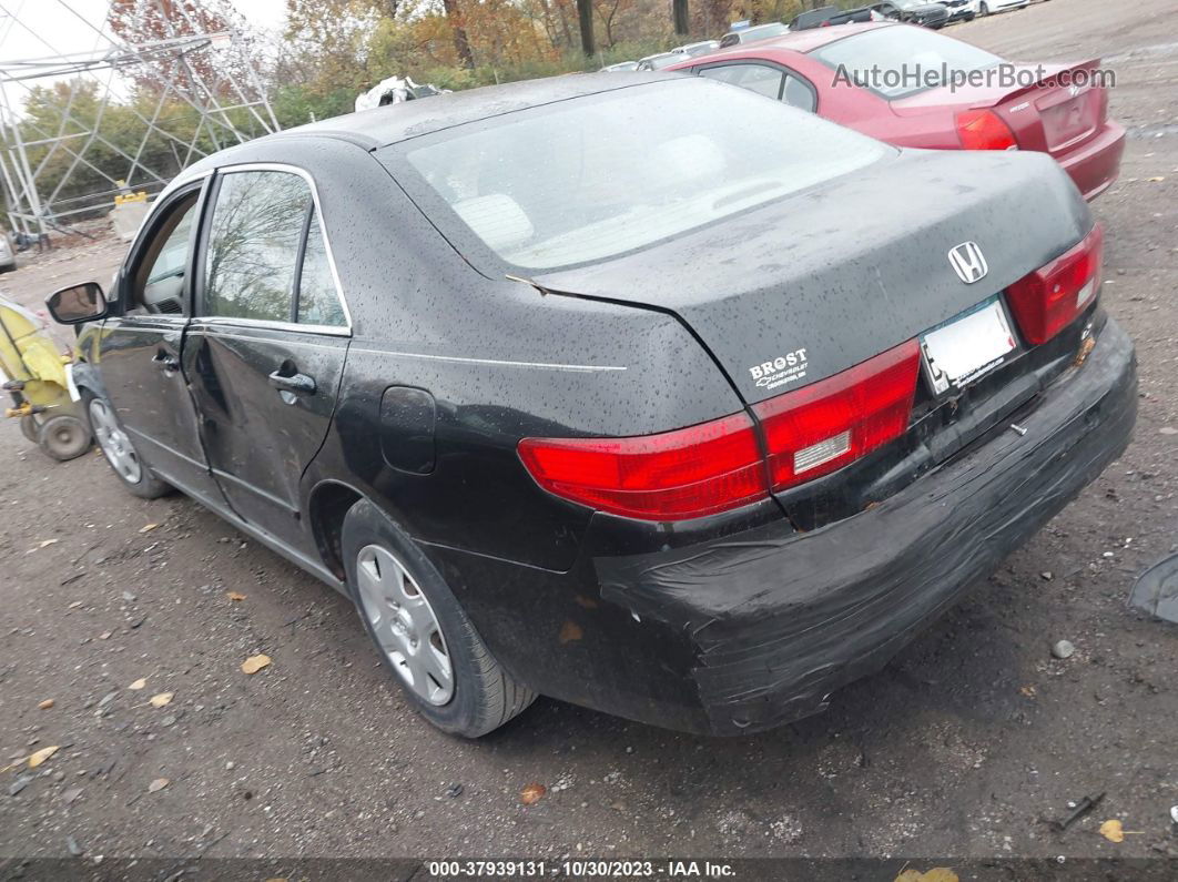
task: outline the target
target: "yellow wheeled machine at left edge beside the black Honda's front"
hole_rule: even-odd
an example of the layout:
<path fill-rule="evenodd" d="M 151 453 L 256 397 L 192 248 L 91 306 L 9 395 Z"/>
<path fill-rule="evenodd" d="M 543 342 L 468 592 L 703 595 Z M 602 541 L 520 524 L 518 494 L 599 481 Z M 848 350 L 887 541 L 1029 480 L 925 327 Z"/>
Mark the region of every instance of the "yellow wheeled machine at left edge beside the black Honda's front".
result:
<path fill-rule="evenodd" d="M 25 437 L 54 459 L 73 459 L 90 450 L 90 425 L 70 398 L 62 356 L 44 324 L 22 306 L 0 297 L 0 380 L 15 406 L 6 417 L 20 419 Z"/>

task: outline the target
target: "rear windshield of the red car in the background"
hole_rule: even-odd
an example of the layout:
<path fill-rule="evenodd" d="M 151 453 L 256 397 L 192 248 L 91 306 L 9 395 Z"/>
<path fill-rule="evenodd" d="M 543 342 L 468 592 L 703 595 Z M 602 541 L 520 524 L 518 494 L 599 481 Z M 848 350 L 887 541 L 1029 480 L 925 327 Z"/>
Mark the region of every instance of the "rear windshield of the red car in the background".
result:
<path fill-rule="evenodd" d="M 839 74 L 893 101 L 946 86 L 971 71 L 1002 62 L 977 46 L 924 27 L 881 27 L 827 44 L 810 53 L 835 72 L 835 86 L 848 86 Z M 853 88 L 853 87 L 852 87 Z"/>

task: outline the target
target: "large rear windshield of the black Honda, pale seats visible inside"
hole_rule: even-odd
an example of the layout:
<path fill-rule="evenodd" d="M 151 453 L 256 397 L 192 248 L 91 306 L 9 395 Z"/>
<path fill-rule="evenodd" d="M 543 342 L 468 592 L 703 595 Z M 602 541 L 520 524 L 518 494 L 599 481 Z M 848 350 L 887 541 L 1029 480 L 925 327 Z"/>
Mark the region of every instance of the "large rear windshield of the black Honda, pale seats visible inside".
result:
<path fill-rule="evenodd" d="M 474 234 L 508 264 L 555 270 L 638 251 L 892 150 L 683 78 L 507 113 L 377 155 L 459 251 Z"/>

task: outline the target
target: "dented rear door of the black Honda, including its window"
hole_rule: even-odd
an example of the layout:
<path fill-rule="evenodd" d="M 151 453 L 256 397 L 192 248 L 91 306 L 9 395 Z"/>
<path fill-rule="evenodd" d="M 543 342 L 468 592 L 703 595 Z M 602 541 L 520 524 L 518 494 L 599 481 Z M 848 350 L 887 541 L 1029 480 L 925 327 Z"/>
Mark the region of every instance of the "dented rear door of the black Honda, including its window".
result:
<path fill-rule="evenodd" d="M 299 479 L 326 436 L 351 337 L 313 180 L 292 166 L 218 177 L 184 371 L 234 511 L 303 548 Z"/>

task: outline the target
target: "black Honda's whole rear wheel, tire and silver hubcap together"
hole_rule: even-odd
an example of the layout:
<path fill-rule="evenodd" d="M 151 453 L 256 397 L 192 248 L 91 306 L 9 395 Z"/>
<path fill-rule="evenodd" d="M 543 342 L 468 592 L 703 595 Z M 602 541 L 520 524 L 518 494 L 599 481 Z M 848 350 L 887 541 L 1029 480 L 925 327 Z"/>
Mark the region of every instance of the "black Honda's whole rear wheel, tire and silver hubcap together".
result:
<path fill-rule="evenodd" d="M 536 698 L 483 643 L 442 573 L 372 503 L 344 517 L 348 586 L 385 667 L 418 714 L 477 738 Z"/>

